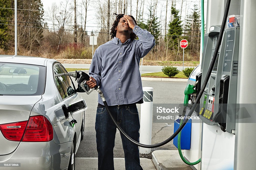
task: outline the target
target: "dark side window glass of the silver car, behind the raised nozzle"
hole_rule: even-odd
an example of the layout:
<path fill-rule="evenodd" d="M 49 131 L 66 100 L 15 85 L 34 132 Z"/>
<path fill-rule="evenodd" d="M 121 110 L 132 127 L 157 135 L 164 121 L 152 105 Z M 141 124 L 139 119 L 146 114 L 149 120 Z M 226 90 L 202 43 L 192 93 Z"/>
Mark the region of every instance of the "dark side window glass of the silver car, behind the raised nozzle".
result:
<path fill-rule="evenodd" d="M 54 73 L 55 74 L 63 73 L 63 71 L 60 69 L 58 64 L 56 64 L 54 67 Z M 66 98 L 68 96 L 71 96 L 72 94 L 75 93 L 74 89 L 72 88 L 73 85 L 70 86 L 70 84 L 68 83 L 67 80 L 69 80 L 69 76 L 55 77 L 55 82 L 56 82 L 57 88 L 60 92 L 62 99 Z"/>

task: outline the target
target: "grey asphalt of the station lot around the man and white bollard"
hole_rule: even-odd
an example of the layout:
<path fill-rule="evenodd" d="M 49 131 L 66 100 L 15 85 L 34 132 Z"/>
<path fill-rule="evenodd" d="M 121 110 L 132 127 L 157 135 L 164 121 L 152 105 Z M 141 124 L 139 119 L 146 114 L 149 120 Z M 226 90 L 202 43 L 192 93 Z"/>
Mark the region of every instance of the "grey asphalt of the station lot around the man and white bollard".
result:
<path fill-rule="evenodd" d="M 184 89 L 186 87 L 186 82 L 161 82 L 161 81 L 142 81 L 143 87 L 153 87 L 153 102 L 154 103 L 183 103 L 184 100 Z M 76 85 L 77 86 L 77 85 Z M 79 149 L 77 151 L 76 157 L 98 157 L 96 148 L 96 138 L 95 138 L 95 117 L 96 108 L 98 105 L 98 93 L 93 91 L 90 95 L 86 93 L 80 93 L 86 100 L 88 109 L 85 114 L 85 136 L 81 141 Z M 137 104 L 138 111 L 140 113 L 140 104 Z M 173 123 L 153 123 L 152 124 L 152 144 L 156 144 L 166 140 L 173 134 Z M 166 145 L 153 148 L 154 150 L 176 150 L 173 142 L 169 142 Z M 114 157 L 124 158 L 124 152 L 122 148 L 122 141 L 120 137 L 120 132 L 117 130 L 115 147 L 114 147 Z M 144 158 L 150 158 L 151 154 L 141 155 Z"/>

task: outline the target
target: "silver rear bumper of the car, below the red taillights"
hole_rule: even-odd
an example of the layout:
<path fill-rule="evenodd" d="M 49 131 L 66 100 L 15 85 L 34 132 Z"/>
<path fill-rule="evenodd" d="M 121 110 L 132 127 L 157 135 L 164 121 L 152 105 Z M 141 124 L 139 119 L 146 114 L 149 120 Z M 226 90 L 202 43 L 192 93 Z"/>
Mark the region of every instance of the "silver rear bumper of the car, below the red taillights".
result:
<path fill-rule="evenodd" d="M 20 142 L 16 150 L 7 155 L 0 155 L 0 163 L 20 163 L 19 169 L 48 170 L 68 167 L 72 142 L 57 145 L 50 142 Z M 15 167 L 0 167 L 14 169 Z M 15 169 L 16 169 L 15 168 Z"/>

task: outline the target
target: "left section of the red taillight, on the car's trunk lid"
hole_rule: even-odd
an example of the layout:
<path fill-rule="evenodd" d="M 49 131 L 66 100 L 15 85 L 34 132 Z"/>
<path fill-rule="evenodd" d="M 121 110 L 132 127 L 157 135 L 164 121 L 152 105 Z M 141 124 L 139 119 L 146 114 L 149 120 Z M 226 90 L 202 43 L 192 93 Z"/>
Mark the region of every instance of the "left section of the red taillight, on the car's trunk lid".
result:
<path fill-rule="evenodd" d="M 0 129 L 6 139 L 20 142 L 27 123 L 28 121 L 2 124 Z"/>

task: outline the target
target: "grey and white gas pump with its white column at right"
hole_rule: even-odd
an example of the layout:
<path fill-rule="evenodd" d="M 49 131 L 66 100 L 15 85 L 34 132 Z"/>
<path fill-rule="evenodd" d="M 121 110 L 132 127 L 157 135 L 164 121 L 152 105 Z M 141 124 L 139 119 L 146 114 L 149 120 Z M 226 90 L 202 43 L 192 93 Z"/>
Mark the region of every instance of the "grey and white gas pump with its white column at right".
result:
<path fill-rule="evenodd" d="M 207 33 L 204 35 L 201 70 L 196 76 L 197 93 L 205 80 L 216 48 L 225 3 L 221 0 L 207 1 Z M 256 130 L 255 108 L 247 109 L 251 117 L 242 121 L 244 113 L 237 109 L 238 103 L 255 103 L 252 96 L 256 92 L 250 88 L 256 81 L 252 73 L 256 50 L 252 46 L 248 48 L 249 43 L 246 41 L 249 37 L 255 39 L 253 28 L 256 21 L 252 21 L 256 16 L 255 9 L 256 1 L 231 0 L 228 15 L 240 15 L 241 22 L 240 25 L 227 24 L 220 48 L 217 49 L 214 68 L 193 113 L 200 117 L 201 123 L 195 123 L 199 125 L 194 125 L 193 129 L 192 120 L 191 149 L 184 150 L 184 157 L 189 162 L 201 158 L 201 163 L 191 166 L 193 169 L 255 169 L 256 147 L 248 146 L 247 142 L 256 140 L 255 133 L 250 133 Z M 235 22 L 237 19 L 229 21 Z M 256 43 L 253 42 L 253 45 Z M 246 123 L 248 119 L 254 123 Z"/>

